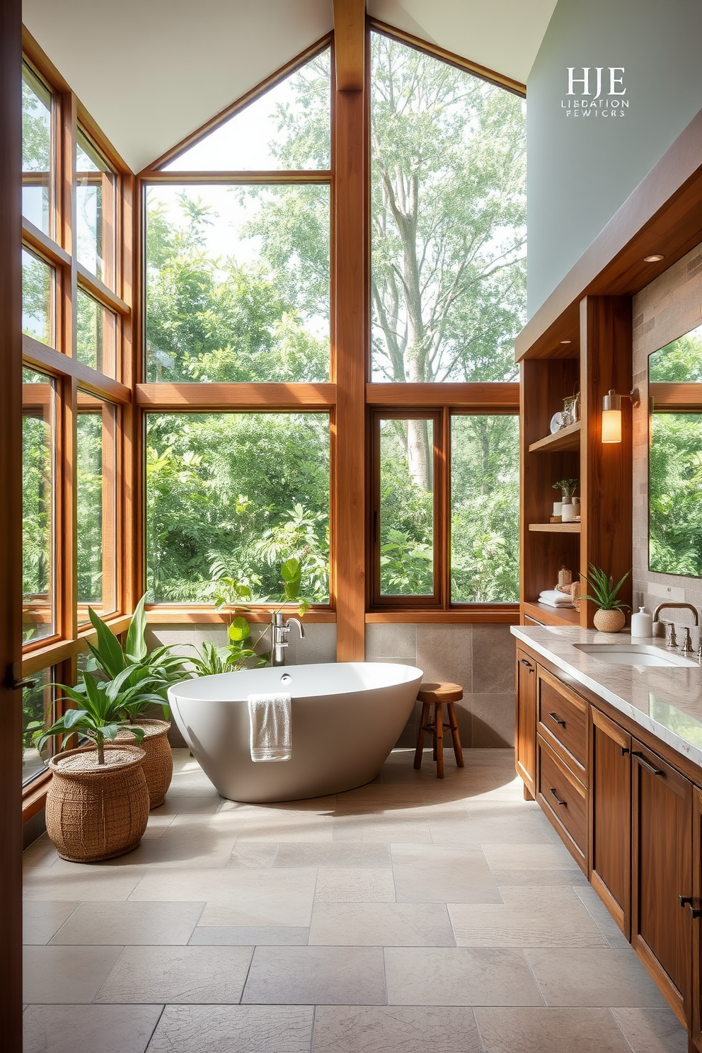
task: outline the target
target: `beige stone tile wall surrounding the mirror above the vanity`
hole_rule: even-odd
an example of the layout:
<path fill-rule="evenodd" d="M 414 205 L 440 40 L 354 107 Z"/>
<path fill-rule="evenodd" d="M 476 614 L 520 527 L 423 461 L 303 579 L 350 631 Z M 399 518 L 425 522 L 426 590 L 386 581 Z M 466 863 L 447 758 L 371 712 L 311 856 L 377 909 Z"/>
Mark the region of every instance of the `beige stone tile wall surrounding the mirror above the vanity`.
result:
<path fill-rule="evenodd" d="M 641 405 L 634 410 L 634 601 L 653 611 L 664 602 L 667 590 L 684 592 L 684 599 L 702 608 L 702 579 L 648 570 L 648 356 L 702 323 L 702 244 L 634 297 L 634 386 Z M 651 591 L 651 587 L 654 591 Z M 675 593 L 671 594 L 675 596 Z M 666 620 L 691 624 L 684 612 L 665 614 Z M 698 639 L 693 633 L 693 642 Z"/>

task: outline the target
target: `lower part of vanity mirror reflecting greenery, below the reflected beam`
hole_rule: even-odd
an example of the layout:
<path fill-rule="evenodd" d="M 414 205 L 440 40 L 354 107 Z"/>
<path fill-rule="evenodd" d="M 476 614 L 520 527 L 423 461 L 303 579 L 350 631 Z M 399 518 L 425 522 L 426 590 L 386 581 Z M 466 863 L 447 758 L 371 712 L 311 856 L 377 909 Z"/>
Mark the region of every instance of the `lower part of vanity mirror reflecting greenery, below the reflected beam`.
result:
<path fill-rule="evenodd" d="M 650 422 L 648 565 L 702 577 L 702 414 L 654 413 Z"/>

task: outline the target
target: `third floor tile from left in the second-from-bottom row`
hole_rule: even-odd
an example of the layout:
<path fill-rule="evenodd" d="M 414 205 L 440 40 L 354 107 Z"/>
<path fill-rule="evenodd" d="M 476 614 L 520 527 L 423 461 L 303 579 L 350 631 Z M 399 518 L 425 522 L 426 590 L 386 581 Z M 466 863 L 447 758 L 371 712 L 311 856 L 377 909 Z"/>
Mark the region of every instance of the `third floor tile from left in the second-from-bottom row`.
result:
<path fill-rule="evenodd" d="M 257 947 L 242 1002 L 384 1006 L 378 947 Z"/>

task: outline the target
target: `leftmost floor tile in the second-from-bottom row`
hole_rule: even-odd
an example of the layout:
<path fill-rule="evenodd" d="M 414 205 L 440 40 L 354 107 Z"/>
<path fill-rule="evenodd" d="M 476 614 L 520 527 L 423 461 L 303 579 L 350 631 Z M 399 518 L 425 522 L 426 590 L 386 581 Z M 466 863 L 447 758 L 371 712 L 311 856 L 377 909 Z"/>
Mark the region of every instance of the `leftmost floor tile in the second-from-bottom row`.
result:
<path fill-rule="evenodd" d="M 38 1006 L 93 1001 L 121 953 L 121 947 L 25 947 L 23 1001 Z"/>

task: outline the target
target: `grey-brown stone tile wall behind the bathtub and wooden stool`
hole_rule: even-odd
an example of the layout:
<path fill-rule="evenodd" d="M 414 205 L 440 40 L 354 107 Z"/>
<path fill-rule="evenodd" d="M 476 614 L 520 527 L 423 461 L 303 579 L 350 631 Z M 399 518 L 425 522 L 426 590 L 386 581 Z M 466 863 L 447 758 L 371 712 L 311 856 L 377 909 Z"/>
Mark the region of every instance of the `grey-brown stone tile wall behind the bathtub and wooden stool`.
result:
<path fill-rule="evenodd" d="M 202 640 L 225 642 L 221 625 L 154 625 L 151 644 L 172 643 L 192 654 L 192 644 Z M 337 632 L 334 624 L 305 625 L 305 638 L 295 630 L 286 663 L 336 661 Z M 417 665 L 427 680 L 450 680 L 463 686 L 463 701 L 457 704 L 461 741 L 469 747 L 515 744 L 515 638 L 508 625 L 366 625 L 366 661 L 392 661 Z M 267 640 L 264 640 L 268 647 Z M 414 746 L 421 707 L 416 706 L 398 744 Z M 182 743 L 173 734 L 174 744 Z"/>

